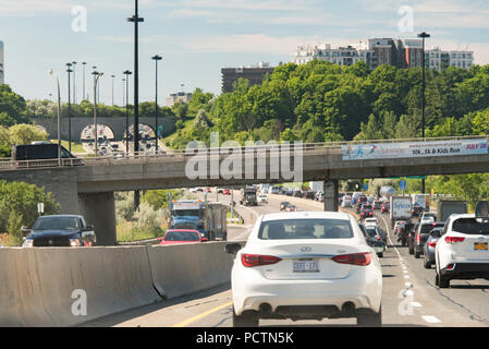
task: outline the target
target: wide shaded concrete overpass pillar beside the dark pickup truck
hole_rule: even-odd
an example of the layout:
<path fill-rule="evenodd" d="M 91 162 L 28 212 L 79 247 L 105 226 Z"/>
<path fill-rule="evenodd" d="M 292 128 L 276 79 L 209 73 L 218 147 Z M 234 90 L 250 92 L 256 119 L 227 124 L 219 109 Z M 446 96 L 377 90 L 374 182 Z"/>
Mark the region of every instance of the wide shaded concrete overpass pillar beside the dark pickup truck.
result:
<path fill-rule="evenodd" d="M 78 204 L 86 222 L 95 226 L 97 245 L 115 245 L 117 225 L 113 192 L 80 194 Z"/>

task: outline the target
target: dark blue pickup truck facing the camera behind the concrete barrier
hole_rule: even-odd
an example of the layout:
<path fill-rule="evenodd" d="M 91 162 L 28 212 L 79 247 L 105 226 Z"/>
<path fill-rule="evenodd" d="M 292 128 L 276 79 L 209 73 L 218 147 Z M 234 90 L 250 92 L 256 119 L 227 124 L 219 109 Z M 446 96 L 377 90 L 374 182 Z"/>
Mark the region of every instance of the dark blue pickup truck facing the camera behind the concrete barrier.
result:
<path fill-rule="evenodd" d="M 64 246 L 80 248 L 96 244 L 94 226 L 80 215 L 40 216 L 32 229 L 22 228 L 28 236 L 23 248 Z"/>

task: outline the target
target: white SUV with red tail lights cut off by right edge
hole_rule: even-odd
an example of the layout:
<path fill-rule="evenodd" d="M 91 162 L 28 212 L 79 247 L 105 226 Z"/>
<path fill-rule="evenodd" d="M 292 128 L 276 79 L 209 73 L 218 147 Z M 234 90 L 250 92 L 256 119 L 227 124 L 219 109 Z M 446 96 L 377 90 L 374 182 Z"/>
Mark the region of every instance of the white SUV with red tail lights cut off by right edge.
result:
<path fill-rule="evenodd" d="M 489 280 L 489 222 L 475 215 L 451 215 L 438 240 L 435 256 L 436 285 L 450 287 L 451 279 Z"/>

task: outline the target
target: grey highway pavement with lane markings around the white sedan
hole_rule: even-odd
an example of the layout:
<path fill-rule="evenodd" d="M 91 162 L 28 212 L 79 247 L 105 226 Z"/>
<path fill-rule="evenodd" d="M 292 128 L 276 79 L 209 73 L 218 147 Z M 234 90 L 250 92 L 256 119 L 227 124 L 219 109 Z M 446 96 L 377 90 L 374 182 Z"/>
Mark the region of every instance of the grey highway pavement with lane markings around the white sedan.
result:
<path fill-rule="evenodd" d="M 236 193 L 236 192 L 235 192 Z M 208 196 L 215 200 L 215 194 Z M 230 196 L 219 195 L 230 202 Z M 239 203 L 236 195 L 234 200 Z M 301 210 L 321 210 L 322 203 L 282 195 L 269 195 L 269 204 L 237 206 L 246 225 L 232 227 L 229 240 L 245 240 L 256 218 L 279 212 L 281 201 L 294 203 Z M 353 212 L 351 212 L 354 214 Z M 415 260 L 387 229 L 387 215 L 377 214 L 381 228 L 389 231 L 388 250 L 380 258 L 383 272 L 383 326 L 402 327 L 487 327 L 489 326 L 489 281 L 453 280 L 452 288 L 435 286 L 435 269 L 425 269 L 423 258 Z M 230 285 L 196 294 L 167 300 L 136 310 L 110 315 L 83 326 L 117 327 L 231 327 Z M 355 318 L 318 321 L 260 321 L 260 326 L 354 326 Z"/>

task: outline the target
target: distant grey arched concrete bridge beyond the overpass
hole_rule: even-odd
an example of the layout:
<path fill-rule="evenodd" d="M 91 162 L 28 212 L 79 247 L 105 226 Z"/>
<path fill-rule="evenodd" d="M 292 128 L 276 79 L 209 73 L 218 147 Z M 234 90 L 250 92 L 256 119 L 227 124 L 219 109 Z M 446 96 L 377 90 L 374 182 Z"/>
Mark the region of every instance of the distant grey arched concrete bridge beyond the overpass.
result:
<path fill-rule="evenodd" d="M 46 129 L 50 140 L 58 139 L 58 118 L 33 118 L 35 124 Z M 61 139 L 69 139 L 68 117 L 61 118 Z M 163 127 L 163 135 L 171 134 L 175 131 L 175 118 L 158 118 L 158 125 Z M 99 118 L 97 123 L 108 125 L 115 137 L 115 141 L 122 141 L 125 132 L 125 118 Z M 155 130 L 155 118 L 139 118 L 139 123 L 148 124 Z M 94 124 L 93 118 L 72 118 L 71 119 L 71 137 L 73 142 L 80 142 L 82 131 L 87 127 Z M 129 119 L 129 125 L 134 124 L 134 118 Z"/>

